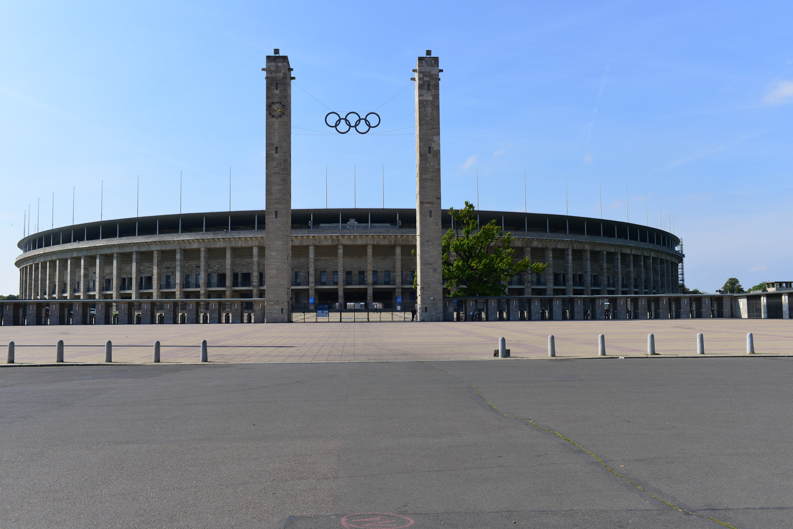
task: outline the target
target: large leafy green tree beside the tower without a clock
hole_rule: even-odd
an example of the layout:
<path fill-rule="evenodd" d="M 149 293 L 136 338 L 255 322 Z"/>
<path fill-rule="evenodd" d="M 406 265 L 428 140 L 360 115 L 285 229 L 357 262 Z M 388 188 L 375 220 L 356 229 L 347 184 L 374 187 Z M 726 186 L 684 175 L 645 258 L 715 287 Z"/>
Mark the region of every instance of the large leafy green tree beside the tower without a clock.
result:
<path fill-rule="evenodd" d="M 542 274 L 547 264 L 515 260 L 512 237 L 491 220 L 479 226 L 473 204 L 449 209 L 454 225 L 441 241 L 443 281 L 452 296 L 504 296 L 509 278 L 531 270 Z"/>

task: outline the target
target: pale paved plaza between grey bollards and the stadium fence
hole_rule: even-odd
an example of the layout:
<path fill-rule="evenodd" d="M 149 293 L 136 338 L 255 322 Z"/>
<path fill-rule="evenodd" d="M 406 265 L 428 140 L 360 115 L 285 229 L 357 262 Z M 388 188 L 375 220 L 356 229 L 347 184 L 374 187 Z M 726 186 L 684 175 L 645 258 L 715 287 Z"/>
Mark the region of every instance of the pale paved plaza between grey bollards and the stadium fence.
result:
<path fill-rule="evenodd" d="M 793 320 L 0 327 L 0 343 L 16 343 L 17 363 L 53 362 L 59 339 L 67 362 L 103 362 L 107 339 L 115 362 L 151 362 L 156 339 L 164 363 L 197 362 L 201 339 L 209 344 L 211 362 L 381 362 L 492 359 L 499 336 L 515 358 L 546 358 L 549 334 L 558 357 L 592 357 L 601 332 L 611 356 L 645 355 L 649 332 L 660 355 L 694 355 L 697 332 L 705 335 L 708 355 L 745 354 L 747 332 L 753 332 L 758 354 L 793 354 Z"/>

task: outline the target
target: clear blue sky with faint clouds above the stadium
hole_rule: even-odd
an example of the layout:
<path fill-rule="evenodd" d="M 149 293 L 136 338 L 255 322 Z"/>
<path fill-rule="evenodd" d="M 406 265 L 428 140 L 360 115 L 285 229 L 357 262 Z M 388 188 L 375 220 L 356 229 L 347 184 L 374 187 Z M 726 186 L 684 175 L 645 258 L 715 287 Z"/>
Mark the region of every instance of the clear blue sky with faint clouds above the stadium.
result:
<path fill-rule="evenodd" d="M 34 228 L 264 207 L 261 68 L 289 55 L 293 205 L 415 205 L 416 56 L 440 57 L 443 205 L 668 228 L 687 283 L 790 280 L 791 2 L 4 2 L 0 293 Z M 310 94 L 310 95 L 309 95 Z M 393 97 L 395 94 L 396 97 Z M 392 98 L 389 102 L 384 102 Z M 320 103 L 321 102 L 321 103 Z M 327 105 L 327 107 L 326 107 Z M 379 135 L 324 133 L 377 108 Z M 308 129 L 308 130 L 306 130 Z M 320 131 L 320 132 L 313 132 Z M 54 212 L 52 194 L 55 194 Z M 646 216 L 645 197 L 649 214 Z M 37 201 L 40 207 L 37 210 Z M 54 217 L 54 220 L 53 220 Z"/>

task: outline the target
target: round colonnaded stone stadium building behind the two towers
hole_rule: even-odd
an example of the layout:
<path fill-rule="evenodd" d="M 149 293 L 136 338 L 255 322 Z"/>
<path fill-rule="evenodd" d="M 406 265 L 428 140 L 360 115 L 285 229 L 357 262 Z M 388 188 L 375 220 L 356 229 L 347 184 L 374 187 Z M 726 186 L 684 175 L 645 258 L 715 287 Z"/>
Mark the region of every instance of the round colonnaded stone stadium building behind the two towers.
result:
<path fill-rule="evenodd" d="M 20 241 L 20 297 L 80 302 L 77 316 L 74 307 L 68 309 L 69 317 L 63 316 L 72 323 L 88 314 L 93 320 L 121 324 L 134 323 L 136 316 L 145 323 L 262 322 L 268 283 L 265 213 L 140 217 L 34 234 Z M 528 298 L 542 300 L 534 305 L 538 309 L 533 319 L 583 318 L 590 298 L 592 305 L 595 300 L 602 305 L 609 298 L 630 297 L 636 305 L 641 297 L 678 292 L 682 256 L 675 249 L 680 241 L 671 233 L 585 217 L 492 211 L 477 215 L 481 222 L 496 220 L 511 232 L 517 257 L 549 264 L 543 274 L 517 276 L 508 284 L 508 297 L 524 298 L 521 305 L 527 305 Z M 448 212 L 437 217 L 443 230 L 451 227 Z M 310 301 L 331 310 L 375 305 L 408 312 L 416 305 L 415 210 L 300 209 L 293 210 L 292 221 L 290 314 L 313 312 L 315 306 L 305 306 Z M 587 303 L 581 305 L 581 298 Z M 202 306 L 219 299 L 224 301 L 213 302 L 218 305 L 213 310 Z M 560 299 L 565 303 L 559 306 L 568 308 L 554 311 L 554 300 Z M 93 311 L 86 310 L 86 301 L 93 301 Z M 97 301 L 105 301 L 105 308 L 97 309 Z M 549 303 L 550 308 L 542 308 Z M 578 316 L 573 307 L 577 304 Z M 64 310 L 65 305 L 50 312 Z M 587 317 L 597 317 L 594 306 L 587 310 Z M 470 311 L 455 311 L 450 303 L 443 312 L 448 320 L 454 319 L 450 313 Z M 532 319 L 528 305 L 510 312 L 525 312 L 523 319 Z"/>

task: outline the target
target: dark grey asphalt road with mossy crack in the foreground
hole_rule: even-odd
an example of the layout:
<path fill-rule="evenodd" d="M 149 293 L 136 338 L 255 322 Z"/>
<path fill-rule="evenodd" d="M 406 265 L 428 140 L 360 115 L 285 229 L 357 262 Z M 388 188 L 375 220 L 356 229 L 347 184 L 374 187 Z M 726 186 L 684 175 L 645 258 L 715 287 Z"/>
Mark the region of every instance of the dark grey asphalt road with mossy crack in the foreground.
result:
<path fill-rule="evenodd" d="M 3 368 L 0 527 L 793 527 L 791 374 L 793 358 Z"/>

